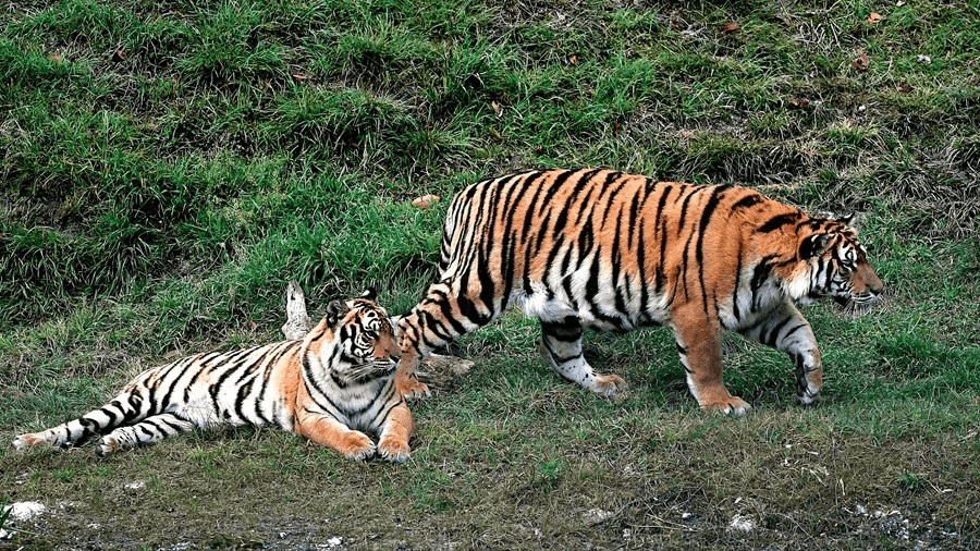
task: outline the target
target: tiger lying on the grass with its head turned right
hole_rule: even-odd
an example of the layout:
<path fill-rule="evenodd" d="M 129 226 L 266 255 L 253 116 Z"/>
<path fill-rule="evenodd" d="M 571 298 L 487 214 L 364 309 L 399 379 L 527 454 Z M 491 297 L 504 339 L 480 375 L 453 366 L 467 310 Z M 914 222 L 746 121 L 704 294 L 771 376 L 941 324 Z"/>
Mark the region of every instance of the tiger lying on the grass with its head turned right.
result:
<path fill-rule="evenodd" d="M 109 404 L 75 420 L 14 439 L 15 448 L 69 448 L 103 434 L 96 453 L 194 428 L 273 425 L 355 461 L 408 458 L 408 405 L 395 392 L 399 355 L 388 313 L 369 289 L 332 301 L 306 336 L 179 359 L 136 377 Z M 360 430 L 379 434 L 373 442 Z"/>

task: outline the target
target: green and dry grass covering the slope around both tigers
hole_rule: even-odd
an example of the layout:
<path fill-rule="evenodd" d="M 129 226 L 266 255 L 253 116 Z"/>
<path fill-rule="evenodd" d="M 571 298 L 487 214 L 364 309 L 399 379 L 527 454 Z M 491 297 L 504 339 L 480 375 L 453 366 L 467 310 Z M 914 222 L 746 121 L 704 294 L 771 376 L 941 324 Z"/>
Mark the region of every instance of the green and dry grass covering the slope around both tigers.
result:
<path fill-rule="evenodd" d="M 470 375 L 413 406 L 406 466 L 254 429 L 105 462 L 88 448 L 0 448 L 0 500 L 52 511 L 14 523 L 33 534 L 13 543 L 968 548 L 980 537 L 978 11 L 2 8 L 0 441 L 99 405 L 170 354 L 279 339 L 291 279 L 314 315 L 367 285 L 407 310 L 449 197 L 518 169 L 610 167 L 858 210 L 889 289 L 865 318 L 805 309 L 828 367 L 826 401 L 808 409 L 786 358 L 732 339 L 726 382 L 755 409 L 702 414 L 667 331 L 587 335 L 590 362 L 632 387 L 596 400 L 550 372 L 537 322 L 509 313 L 453 346 L 476 360 Z M 427 194 L 443 200 L 412 206 Z M 735 515 L 756 528 L 730 528 Z"/>

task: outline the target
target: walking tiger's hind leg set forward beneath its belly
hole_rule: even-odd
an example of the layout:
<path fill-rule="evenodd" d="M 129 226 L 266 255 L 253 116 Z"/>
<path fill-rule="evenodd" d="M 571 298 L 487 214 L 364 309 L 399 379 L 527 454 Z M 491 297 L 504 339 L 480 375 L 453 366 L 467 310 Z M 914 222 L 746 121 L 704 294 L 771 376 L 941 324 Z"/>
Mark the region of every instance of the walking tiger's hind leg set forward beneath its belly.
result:
<path fill-rule="evenodd" d="M 592 370 L 581 354 L 583 328 L 574 316 L 562 321 L 541 320 L 541 358 L 566 381 L 574 382 L 600 396 L 612 397 L 626 389 L 626 381 L 615 375 Z"/>

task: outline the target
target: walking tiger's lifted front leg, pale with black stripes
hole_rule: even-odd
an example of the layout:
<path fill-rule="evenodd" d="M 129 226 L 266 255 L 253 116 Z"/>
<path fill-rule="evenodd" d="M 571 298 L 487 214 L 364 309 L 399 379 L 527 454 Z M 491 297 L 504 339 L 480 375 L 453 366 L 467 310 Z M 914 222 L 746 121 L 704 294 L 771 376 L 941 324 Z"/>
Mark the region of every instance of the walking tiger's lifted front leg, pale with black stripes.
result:
<path fill-rule="evenodd" d="M 823 363 L 813 329 L 793 303 L 782 303 L 756 325 L 739 333 L 746 339 L 788 354 L 795 366 L 796 399 L 803 405 L 817 401 L 823 385 Z"/>

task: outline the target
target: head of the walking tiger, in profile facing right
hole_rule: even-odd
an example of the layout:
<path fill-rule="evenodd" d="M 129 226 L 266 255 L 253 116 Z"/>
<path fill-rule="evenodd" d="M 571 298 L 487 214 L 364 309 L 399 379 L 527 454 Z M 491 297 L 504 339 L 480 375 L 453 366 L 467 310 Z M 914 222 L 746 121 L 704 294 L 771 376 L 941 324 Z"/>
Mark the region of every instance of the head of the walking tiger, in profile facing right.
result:
<path fill-rule="evenodd" d="M 880 298 L 883 285 L 857 238 L 855 216 L 813 220 L 809 228 L 812 232 L 801 236 L 798 246 L 798 258 L 809 272 L 804 302 L 829 296 L 848 314 L 867 314 Z"/>

